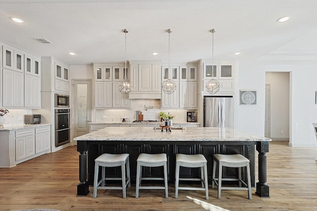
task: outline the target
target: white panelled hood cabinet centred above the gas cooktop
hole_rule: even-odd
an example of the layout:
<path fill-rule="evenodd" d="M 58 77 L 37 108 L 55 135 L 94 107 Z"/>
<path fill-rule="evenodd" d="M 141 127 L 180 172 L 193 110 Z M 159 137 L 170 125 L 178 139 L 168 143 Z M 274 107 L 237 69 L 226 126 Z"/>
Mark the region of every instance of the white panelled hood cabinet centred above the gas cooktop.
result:
<path fill-rule="evenodd" d="M 160 99 L 160 65 L 155 62 L 130 61 L 133 90 L 130 99 Z"/>

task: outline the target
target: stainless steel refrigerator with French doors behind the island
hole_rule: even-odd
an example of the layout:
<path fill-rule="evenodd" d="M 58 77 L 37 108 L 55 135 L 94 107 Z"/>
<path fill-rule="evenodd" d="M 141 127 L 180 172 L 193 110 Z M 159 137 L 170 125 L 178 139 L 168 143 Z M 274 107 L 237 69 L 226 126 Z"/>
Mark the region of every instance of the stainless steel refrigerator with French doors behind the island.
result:
<path fill-rule="evenodd" d="M 233 96 L 204 97 L 204 127 L 234 128 Z"/>

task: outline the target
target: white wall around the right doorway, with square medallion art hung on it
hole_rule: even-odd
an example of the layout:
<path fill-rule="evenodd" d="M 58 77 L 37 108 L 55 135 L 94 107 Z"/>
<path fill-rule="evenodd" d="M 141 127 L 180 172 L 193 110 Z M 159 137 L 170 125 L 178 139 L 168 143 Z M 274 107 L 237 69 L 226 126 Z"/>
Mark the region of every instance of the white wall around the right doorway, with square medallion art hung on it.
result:
<path fill-rule="evenodd" d="M 239 88 L 256 89 L 257 106 L 239 106 L 239 128 L 264 136 L 265 72 L 290 74 L 290 146 L 317 146 L 313 122 L 317 122 L 317 59 L 280 60 L 267 56 L 258 61 L 240 61 Z"/>

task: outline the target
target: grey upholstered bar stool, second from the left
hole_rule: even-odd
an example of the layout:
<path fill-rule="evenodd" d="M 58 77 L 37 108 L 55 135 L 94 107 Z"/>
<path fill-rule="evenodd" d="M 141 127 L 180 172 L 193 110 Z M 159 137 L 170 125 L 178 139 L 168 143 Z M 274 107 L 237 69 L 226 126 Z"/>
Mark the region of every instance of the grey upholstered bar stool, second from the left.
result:
<path fill-rule="evenodd" d="M 142 177 L 142 167 L 161 167 L 164 169 L 163 177 Z M 141 180 L 164 180 L 164 186 L 141 186 Z M 165 198 L 168 198 L 167 187 L 167 157 L 166 154 L 141 153 L 137 159 L 137 178 L 135 198 L 139 198 L 139 189 L 165 189 Z"/>

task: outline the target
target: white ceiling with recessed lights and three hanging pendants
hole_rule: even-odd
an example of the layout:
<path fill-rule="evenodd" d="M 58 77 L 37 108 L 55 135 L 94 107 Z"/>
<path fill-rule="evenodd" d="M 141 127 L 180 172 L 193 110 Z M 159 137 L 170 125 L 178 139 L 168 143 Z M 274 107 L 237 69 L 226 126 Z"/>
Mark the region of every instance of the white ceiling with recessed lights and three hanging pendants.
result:
<path fill-rule="evenodd" d="M 171 62 L 210 59 L 213 28 L 214 59 L 317 55 L 317 0 L 0 0 L 0 40 L 69 65 L 123 62 L 125 28 L 127 60 L 166 62 L 167 29 Z"/>

